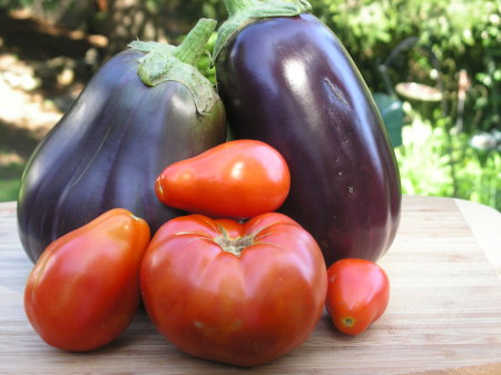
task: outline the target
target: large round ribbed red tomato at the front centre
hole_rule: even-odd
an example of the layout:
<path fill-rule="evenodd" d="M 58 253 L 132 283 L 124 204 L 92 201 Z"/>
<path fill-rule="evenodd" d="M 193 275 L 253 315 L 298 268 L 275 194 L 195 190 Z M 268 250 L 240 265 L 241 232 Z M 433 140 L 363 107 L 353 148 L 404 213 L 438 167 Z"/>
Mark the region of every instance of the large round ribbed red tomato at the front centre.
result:
<path fill-rule="evenodd" d="M 179 349 L 254 366 L 308 337 L 324 308 L 326 274 L 316 241 L 285 215 L 245 224 L 189 215 L 157 231 L 140 283 L 153 323 Z"/>

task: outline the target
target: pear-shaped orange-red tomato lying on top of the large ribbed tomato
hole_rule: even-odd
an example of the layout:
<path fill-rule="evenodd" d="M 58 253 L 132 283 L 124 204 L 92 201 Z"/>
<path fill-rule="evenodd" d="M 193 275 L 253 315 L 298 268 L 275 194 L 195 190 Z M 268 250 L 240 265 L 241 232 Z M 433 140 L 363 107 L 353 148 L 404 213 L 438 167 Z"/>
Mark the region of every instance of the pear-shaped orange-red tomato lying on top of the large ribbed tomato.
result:
<path fill-rule="evenodd" d="M 287 164 L 257 140 L 216 146 L 167 167 L 155 190 L 165 205 L 212 217 L 249 218 L 274 211 L 291 186 Z"/>

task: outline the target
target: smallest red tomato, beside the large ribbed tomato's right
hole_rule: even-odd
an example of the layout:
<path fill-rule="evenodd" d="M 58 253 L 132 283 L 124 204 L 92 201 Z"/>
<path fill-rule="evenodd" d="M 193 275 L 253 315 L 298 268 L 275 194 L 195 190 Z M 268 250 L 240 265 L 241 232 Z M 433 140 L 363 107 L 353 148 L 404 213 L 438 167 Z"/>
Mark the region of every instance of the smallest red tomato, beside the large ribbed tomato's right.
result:
<path fill-rule="evenodd" d="M 390 280 L 375 263 L 346 258 L 327 270 L 326 308 L 338 330 L 357 335 L 385 312 L 390 300 Z"/>

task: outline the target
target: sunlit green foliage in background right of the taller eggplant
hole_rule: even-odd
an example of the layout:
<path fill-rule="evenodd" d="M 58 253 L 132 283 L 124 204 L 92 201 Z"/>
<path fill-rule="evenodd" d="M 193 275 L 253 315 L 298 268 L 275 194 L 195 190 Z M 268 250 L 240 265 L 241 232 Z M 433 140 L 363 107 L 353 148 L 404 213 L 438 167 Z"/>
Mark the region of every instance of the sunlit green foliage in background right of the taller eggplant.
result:
<path fill-rule="evenodd" d="M 443 106 L 407 102 L 395 148 L 405 194 L 455 196 L 501 210 L 501 148 L 474 149 L 471 137 L 501 130 L 501 2 L 489 0 L 314 0 L 314 12 L 350 51 L 369 87 L 384 91 L 377 65 L 406 38 L 418 43 L 389 67 L 394 82 L 439 87 Z M 433 58 L 436 61 L 433 61 Z M 438 69 L 436 69 L 438 68 Z M 458 79 L 470 78 L 458 131 Z M 501 145 L 501 144 L 499 144 Z"/>

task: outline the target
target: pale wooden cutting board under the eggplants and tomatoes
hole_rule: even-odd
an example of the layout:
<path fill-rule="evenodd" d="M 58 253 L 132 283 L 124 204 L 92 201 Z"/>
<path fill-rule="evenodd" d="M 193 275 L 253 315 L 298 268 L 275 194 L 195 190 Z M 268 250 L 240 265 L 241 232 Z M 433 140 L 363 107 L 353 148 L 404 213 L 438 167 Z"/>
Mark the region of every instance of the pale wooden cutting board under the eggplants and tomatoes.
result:
<path fill-rule="evenodd" d="M 501 266 L 492 264 L 501 254 L 501 215 L 477 210 L 474 235 L 472 216 L 465 218 L 471 207 L 404 197 L 397 237 L 380 261 L 392 284 L 385 315 L 348 337 L 334 330 L 325 313 L 308 341 L 288 355 L 237 368 L 180 353 L 144 312 L 101 349 L 75 354 L 46 345 L 23 313 L 32 264 L 18 239 L 16 206 L 0 204 L 0 374 L 501 374 L 501 365 L 492 364 L 501 361 Z"/>

